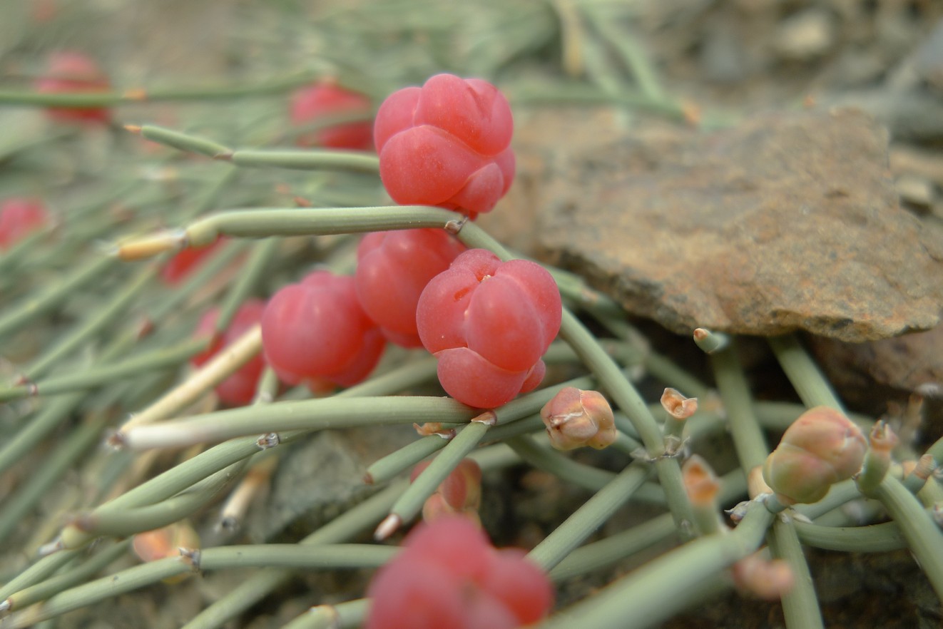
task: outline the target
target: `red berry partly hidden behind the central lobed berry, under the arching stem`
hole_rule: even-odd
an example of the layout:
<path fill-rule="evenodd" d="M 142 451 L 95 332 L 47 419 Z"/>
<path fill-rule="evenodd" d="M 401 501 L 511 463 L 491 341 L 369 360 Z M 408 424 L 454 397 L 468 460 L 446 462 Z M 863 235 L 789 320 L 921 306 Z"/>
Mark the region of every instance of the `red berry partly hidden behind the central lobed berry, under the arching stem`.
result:
<path fill-rule="evenodd" d="M 441 229 L 367 234 L 357 247 L 356 294 L 388 339 L 421 347 L 416 306 L 426 284 L 449 268 L 465 246 Z"/>

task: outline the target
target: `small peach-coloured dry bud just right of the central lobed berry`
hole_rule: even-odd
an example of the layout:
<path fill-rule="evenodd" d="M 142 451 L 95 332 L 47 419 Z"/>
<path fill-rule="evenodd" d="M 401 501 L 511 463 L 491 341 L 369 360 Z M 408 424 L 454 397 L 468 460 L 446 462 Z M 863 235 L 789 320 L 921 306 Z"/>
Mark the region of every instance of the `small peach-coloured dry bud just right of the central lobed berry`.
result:
<path fill-rule="evenodd" d="M 551 445 L 557 450 L 589 446 L 601 450 L 616 440 L 612 407 L 599 391 L 565 387 L 540 409 Z"/>

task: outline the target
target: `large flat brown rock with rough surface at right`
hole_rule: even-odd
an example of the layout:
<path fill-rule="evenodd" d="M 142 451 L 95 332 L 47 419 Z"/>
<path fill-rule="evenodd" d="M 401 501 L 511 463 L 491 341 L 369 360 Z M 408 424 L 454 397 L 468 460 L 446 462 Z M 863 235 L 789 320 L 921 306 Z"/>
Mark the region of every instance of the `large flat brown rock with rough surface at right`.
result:
<path fill-rule="evenodd" d="M 859 342 L 940 322 L 943 233 L 901 209 L 886 133 L 860 112 L 640 128 L 545 169 L 542 255 L 676 332 Z"/>

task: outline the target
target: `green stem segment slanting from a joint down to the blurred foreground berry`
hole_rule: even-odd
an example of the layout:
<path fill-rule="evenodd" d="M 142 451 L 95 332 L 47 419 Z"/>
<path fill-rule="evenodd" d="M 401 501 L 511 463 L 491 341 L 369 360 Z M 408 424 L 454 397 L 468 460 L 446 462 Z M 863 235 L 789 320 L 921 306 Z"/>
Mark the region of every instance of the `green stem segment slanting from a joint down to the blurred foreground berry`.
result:
<path fill-rule="evenodd" d="M 597 491 L 587 502 L 573 511 L 527 556 L 541 569 L 550 571 L 564 557 L 591 536 L 604 521 L 612 517 L 645 481 L 649 470 L 644 464 L 633 463 L 616 475 L 608 485 Z M 677 522 L 675 522 L 677 525 Z M 591 625 L 586 625 L 591 626 Z"/>

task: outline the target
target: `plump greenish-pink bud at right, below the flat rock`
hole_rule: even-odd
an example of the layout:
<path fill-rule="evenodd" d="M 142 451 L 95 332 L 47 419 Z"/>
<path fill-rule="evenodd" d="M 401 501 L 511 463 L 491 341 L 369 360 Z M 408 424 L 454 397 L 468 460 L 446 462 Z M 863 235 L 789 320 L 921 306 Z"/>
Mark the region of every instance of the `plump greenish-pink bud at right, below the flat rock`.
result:
<path fill-rule="evenodd" d="M 851 420 L 817 406 L 789 426 L 767 457 L 763 478 L 785 505 L 817 503 L 861 469 L 867 450 L 868 440 Z"/>

